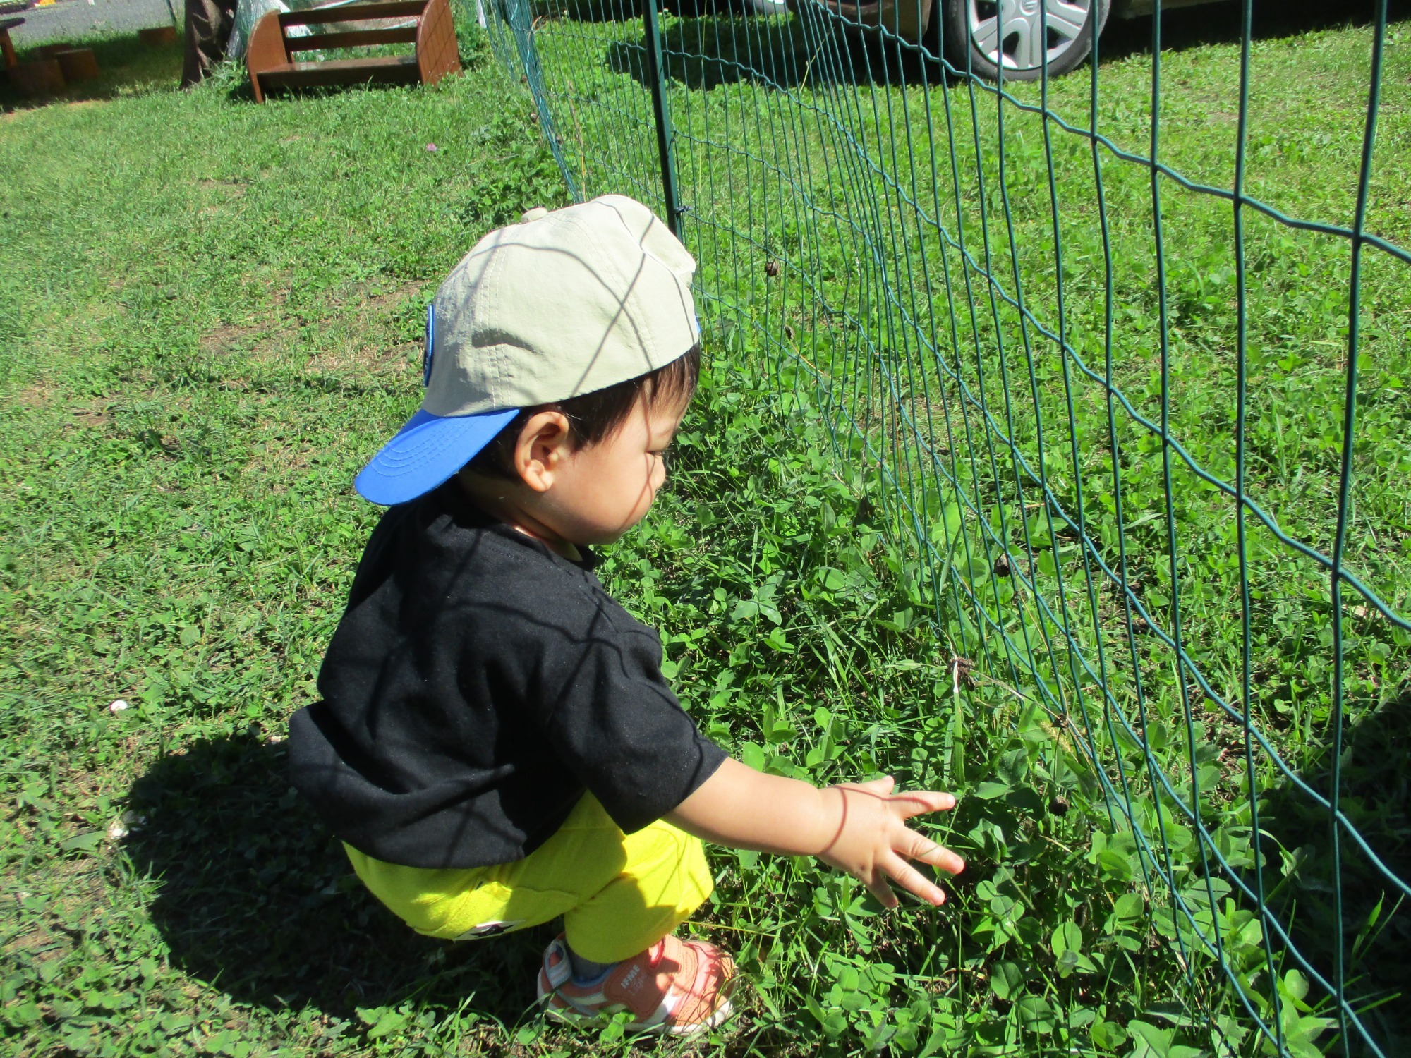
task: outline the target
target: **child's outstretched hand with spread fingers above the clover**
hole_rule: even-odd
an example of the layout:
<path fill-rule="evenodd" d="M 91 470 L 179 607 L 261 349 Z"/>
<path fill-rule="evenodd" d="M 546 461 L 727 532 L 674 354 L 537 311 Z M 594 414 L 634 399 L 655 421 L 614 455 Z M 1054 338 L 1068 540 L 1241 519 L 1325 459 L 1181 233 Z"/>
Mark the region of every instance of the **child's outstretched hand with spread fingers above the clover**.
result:
<path fill-rule="evenodd" d="M 907 861 L 930 863 L 950 875 L 965 869 L 965 861 L 906 825 L 923 813 L 950 811 L 955 797 L 934 790 L 892 793 L 892 776 L 869 783 L 842 783 L 823 790 L 834 804 L 841 801 L 838 829 L 818 853 L 825 863 L 847 870 L 868 887 L 883 907 L 896 907 L 897 899 L 888 879 L 926 900 L 945 903 L 945 893 Z"/>

